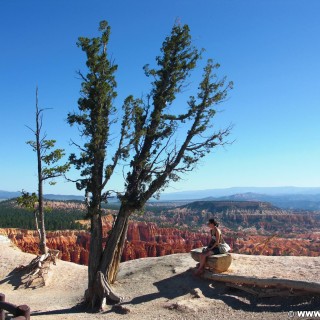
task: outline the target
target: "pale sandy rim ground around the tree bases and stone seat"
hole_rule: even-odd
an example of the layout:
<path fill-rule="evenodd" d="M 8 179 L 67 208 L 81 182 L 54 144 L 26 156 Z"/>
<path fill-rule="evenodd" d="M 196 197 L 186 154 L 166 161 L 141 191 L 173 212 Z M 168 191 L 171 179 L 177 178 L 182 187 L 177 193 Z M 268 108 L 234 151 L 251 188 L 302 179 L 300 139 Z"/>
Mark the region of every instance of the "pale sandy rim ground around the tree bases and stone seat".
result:
<path fill-rule="evenodd" d="M 121 264 L 115 291 L 124 296 L 119 306 L 99 314 L 78 304 L 87 284 L 87 267 L 58 260 L 46 286 L 24 288 L 12 270 L 35 256 L 21 252 L 0 235 L 0 292 L 6 301 L 27 304 L 32 319 L 289 319 L 288 312 L 320 310 L 320 296 L 257 298 L 193 276 L 190 254 L 128 261 Z M 260 278 L 283 278 L 320 283 L 320 257 L 268 257 L 233 254 L 227 273 Z M 305 319 L 311 319 L 305 318 Z"/>

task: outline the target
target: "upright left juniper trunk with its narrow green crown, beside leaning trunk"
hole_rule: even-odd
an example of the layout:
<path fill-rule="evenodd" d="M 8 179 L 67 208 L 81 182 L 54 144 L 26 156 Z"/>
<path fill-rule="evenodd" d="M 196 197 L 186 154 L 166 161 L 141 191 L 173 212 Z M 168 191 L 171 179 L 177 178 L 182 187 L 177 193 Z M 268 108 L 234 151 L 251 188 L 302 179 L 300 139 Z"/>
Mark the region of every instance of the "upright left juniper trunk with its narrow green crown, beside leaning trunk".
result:
<path fill-rule="evenodd" d="M 107 45 L 110 36 L 110 26 L 106 21 L 100 22 L 100 37 L 80 37 L 77 45 L 87 56 L 88 73 L 78 72 L 82 79 L 81 97 L 78 100 L 79 112 L 68 114 L 70 125 L 77 125 L 81 136 L 85 139 L 83 146 L 76 144 L 80 155 L 70 155 L 70 162 L 81 171 L 81 178 L 76 180 L 79 190 L 85 191 L 88 217 L 91 221 L 91 239 L 88 262 L 88 290 L 86 300 L 93 305 L 96 300 L 97 274 L 100 271 L 102 256 L 102 222 L 101 203 L 106 201 L 107 192 L 104 188 L 112 176 L 119 160 L 128 156 L 127 140 L 128 114 L 122 121 L 121 137 L 109 164 L 107 161 L 107 146 L 110 144 L 110 126 L 114 121 L 114 99 L 117 83 L 114 73 L 117 65 L 109 58 Z"/>

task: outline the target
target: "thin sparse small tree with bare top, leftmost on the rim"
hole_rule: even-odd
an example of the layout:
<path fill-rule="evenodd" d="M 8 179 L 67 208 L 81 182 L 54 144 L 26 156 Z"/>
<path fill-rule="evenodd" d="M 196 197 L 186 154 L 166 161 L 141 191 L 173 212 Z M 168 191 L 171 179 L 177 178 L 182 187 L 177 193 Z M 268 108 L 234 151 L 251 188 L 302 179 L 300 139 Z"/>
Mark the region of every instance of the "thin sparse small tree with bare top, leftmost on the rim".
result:
<path fill-rule="evenodd" d="M 63 165 L 58 165 L 58 162 L 65 155 L 63 149 L 54 149 L 56 140 L 47 140 L 46 134 L 42 134 L 42 119 L 43 111 L 45 109 L 39 109 L 38 106 L 38 87 L 36 88 L 36 128 L 32 129 L 28 127 L 34 134 L 35 140 L 27 141 L 33 151 L 37 154 L 37 177 L 38 177 L 38 208 L 35 211 L 35 221 L 37 231 L 40 235 L 39 250 L 41 254 L 47 253 L 46 246 L 46 229 L 45 229 L 45 220 L 44 220 L 44 199 L 43 199 L 43 183 L 49 181 L 50 185 L 54 185 L 55 178 L 64 175 L 69 167 L 69 163 Z M 18 200 L 20 204 L 25 207 L 31 208 L 35 207 L 35 194 L 23 192 L 22 196 Z M 38 227 L 38 218 L 40 227 Z"/>

